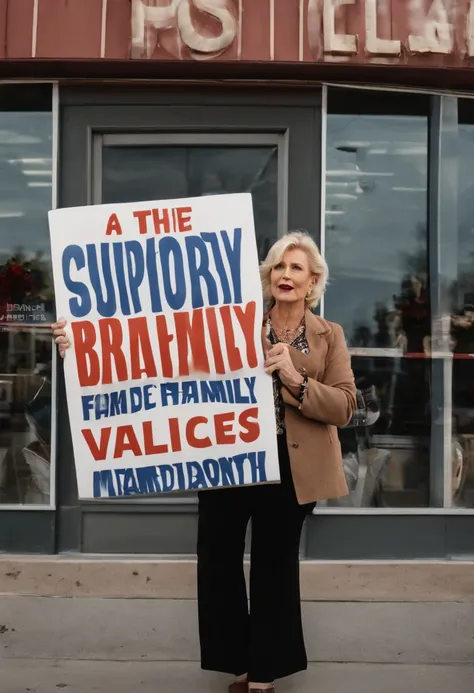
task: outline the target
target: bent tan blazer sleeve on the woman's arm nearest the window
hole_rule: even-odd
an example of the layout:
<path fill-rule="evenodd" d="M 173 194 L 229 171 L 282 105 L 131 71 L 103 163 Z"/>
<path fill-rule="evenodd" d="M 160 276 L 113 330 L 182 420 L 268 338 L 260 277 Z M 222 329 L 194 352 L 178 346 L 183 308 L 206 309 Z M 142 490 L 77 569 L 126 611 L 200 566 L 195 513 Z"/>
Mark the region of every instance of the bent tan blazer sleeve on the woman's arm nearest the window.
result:
<path fill-rule="evenodd" d="M 303 416 L 333 426 L 346 426 L 356 404 L 356 387 L 351 357 L 340 325 L 333 325 L 327 365 L 322 382 L 308 379 L 308 388 L 300 404 L 287 388 L 282 388 L 285 404 L 297 407 Z"/>

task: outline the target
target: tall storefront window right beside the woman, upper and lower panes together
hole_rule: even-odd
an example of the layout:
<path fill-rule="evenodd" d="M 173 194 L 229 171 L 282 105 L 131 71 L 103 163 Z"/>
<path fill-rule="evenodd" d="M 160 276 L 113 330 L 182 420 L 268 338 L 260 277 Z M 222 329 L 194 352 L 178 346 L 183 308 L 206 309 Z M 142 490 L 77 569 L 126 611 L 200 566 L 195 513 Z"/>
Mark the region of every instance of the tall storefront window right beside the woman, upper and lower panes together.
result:
<path fill-rule="evenodd" d="M 351 495 L 430 504 L 428 113 L 423 95 L 328 95 L 324 315 L 342 324 L 366 424 L 340 431 Z"/>

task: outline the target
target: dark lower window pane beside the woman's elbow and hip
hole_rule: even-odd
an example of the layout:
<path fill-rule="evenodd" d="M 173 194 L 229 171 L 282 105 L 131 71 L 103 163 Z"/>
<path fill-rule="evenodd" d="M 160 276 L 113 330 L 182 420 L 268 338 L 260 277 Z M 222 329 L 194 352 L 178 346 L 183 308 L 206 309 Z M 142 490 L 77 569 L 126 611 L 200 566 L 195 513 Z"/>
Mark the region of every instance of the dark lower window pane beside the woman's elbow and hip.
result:
<path fill-rule="evenodd" d="M 430 362 L 356 357 L 352 366 L 366 421 L 339 430 L 350 495 L 326 505 L 429 505 Z"/>

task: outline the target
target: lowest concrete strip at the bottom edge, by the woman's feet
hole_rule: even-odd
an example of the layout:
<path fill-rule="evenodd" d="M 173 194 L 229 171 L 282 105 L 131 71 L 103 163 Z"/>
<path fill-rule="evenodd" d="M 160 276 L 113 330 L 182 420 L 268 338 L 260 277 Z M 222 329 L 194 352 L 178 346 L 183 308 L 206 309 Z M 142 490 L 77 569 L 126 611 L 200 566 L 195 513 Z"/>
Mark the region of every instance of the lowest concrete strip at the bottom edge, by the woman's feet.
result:
<path fill-rule="evenodd" d="M 226 693 L 228 679 L 193 663 L 2 662 L 2 693 Z M 310 664 L 278 693 L 472 693 L 474 667 L 400 664 Z"/>

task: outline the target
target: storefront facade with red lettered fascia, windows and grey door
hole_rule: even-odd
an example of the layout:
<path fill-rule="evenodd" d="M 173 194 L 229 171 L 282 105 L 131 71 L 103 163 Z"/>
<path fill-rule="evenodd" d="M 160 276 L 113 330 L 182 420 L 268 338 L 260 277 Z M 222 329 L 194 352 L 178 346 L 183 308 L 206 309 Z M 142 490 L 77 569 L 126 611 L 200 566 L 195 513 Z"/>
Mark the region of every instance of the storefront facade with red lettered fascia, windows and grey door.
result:
<path fill-rule="evenodd" d="M 474 2 L 0 0 L 0 33 L 0 551 L 194 554 L 194 496 L 78 500 L 47 212 L 251 192 L 261 258 L 321 246 L 369 404 L 303 557 L 471 558 Z"/>

